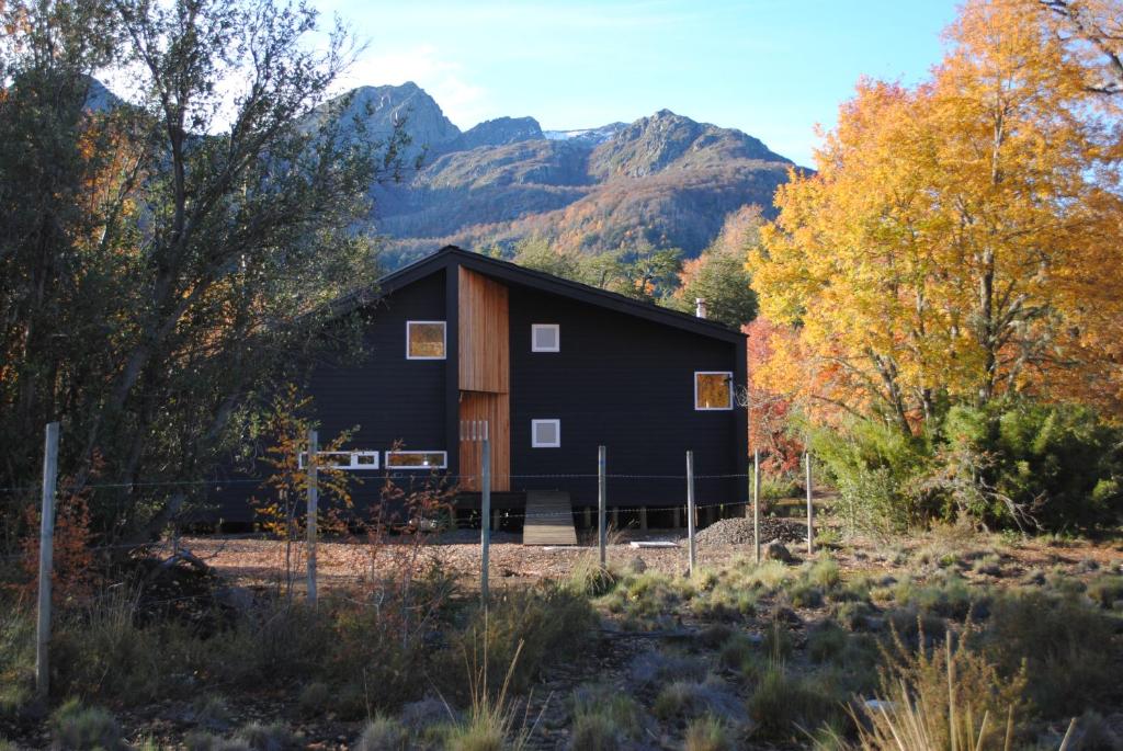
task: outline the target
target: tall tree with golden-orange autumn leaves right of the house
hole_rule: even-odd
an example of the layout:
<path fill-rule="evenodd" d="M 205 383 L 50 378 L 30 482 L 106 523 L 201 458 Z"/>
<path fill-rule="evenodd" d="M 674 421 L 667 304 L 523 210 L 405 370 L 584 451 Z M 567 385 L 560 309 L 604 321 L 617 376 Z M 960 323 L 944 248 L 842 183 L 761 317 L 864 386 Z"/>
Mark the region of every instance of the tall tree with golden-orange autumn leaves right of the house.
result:
<path fill-rule="evenodd" d="M 974 0 L 947 36 L 931 80 L 860 82 L 816 174 L 778 191 L 748 266 L 796 346 L 754 378 L 905 433 L 948 401 L 1093 382 L 1117 410 L 1111 117 L 1037 3 Z"/>

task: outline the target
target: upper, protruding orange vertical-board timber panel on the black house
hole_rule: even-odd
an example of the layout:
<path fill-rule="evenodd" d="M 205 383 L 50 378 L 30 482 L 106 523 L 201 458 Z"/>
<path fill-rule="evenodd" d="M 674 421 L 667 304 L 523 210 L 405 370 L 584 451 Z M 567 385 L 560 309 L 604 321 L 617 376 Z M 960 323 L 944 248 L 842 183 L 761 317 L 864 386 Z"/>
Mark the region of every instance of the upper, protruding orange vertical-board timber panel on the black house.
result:
<path fill-rule="evenodd" d="M 459 268 L 459 372 L 462 391 L 510 391 L 506 286 Z"/>

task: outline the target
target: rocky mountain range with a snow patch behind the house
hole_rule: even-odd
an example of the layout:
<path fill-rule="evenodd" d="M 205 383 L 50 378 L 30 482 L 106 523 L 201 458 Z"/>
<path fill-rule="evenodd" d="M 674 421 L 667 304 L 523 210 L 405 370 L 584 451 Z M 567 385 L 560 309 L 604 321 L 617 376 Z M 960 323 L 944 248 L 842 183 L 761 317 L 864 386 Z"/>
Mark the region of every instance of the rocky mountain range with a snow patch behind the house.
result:
<path fill-rule="evenodd" d="M 740 130 L 669 110 L 631 123 L 542 130 L 532 117 L 503 117 L 460 130 L 414 83 L 363 86 L 325 106 L 365 120 L 384 138 L 404 119 L 400 182 L 372 187 L 372 222 L 387 237 L 390 265 L 442 245 L 510 246 L 540 237 L 599 253 L 650 244 L 697 255 L 725 217 L 746 204 L 773 210 L 795 165 Z"/>

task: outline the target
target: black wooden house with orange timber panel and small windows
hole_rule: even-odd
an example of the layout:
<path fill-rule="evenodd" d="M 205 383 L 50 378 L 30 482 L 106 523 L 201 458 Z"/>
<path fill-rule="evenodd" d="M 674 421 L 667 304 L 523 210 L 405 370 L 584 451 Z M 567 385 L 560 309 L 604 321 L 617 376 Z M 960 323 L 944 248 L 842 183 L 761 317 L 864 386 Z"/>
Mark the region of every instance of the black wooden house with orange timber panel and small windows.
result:
<path fill-rule="evenodd" d="M 746 501 L 740 332 L 451 246 L 385 276 L 369 304 L 365 357 L 310 382 L 321 436 L 358 425 L 344 457 L 366 475 L 357 500 L 383 473 L 436 473 L 478 509 L 471 433 L 486 421 L 492 506 L 512 519 L 528 493 L 560 491 L 579 522 L 599 446 L 610 507 L 681 507 L 687 450 L 701 506 Z"/>

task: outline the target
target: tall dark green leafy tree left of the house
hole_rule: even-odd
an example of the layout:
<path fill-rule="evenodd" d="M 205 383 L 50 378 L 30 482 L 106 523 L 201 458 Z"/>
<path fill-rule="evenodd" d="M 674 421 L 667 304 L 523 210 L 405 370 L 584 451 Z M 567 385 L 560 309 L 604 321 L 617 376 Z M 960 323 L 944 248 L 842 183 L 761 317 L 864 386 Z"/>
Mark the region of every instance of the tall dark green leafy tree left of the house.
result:
<path fill-rule="evenodd" d="M 309 44 L 304 6 L 0 12 L 0 484 L 33 483 L 43 423 L 60 419 L 75 492 L 94 457 L 113 486 L 93 495 L 94 528 L 143 539 L 274 383 L 346 344 L 346 326 L 322 335 L 326 303 L 376 273 L 355 228 L 404 136 L 376 144 L 321 117 L 346 106 L 328 97 L 351 47 L 338 25 Z M 107 70 L 129 73 L 130 103 L 91 109 Z"/>

